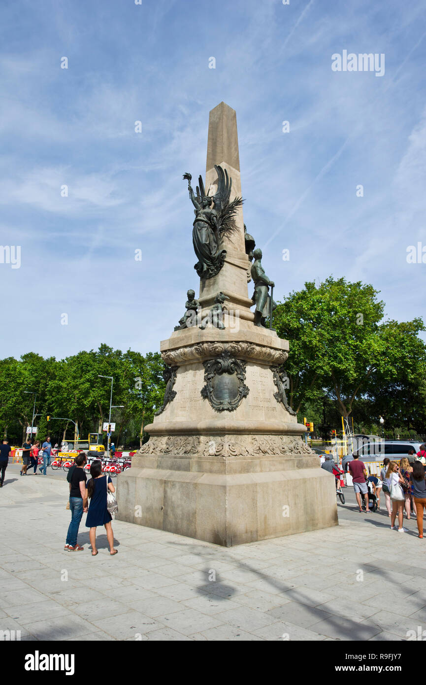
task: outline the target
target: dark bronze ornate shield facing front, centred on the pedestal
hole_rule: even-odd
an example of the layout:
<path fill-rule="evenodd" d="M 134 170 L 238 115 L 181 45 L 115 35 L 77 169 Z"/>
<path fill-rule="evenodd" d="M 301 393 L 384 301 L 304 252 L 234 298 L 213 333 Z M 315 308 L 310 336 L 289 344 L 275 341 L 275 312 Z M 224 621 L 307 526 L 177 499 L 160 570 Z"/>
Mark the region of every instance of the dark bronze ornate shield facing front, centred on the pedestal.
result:
<path fill-rule="evenodd" d="M 201 396 L 208 399 L 216 412 L 233 412 L 249 394 L 245 362 L 225 349 L 220 356 L 203 362 L 203 366 L 205 386 L 201 388 Z"/>

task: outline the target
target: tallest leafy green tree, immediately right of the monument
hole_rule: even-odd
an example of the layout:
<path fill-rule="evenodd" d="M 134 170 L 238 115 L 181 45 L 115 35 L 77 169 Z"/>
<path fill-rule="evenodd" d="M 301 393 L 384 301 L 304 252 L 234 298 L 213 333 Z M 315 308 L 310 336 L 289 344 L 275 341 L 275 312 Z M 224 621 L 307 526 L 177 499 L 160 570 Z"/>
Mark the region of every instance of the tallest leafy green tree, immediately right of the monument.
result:
<path fill-rule="evenodd" d="M 377 332 L 384 302 L 377 295 L 371 285 L 329 277 L 319 288 L 305 283 L 279 303 L 273 321 L 279 336 L 290 340 L 286 369 L 297 412 L 301 401 L 332 393 L 340 414 L 351 414 L 355 397 L 381 364 Z"/>

